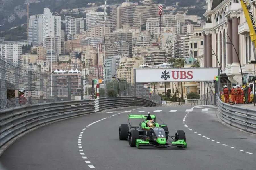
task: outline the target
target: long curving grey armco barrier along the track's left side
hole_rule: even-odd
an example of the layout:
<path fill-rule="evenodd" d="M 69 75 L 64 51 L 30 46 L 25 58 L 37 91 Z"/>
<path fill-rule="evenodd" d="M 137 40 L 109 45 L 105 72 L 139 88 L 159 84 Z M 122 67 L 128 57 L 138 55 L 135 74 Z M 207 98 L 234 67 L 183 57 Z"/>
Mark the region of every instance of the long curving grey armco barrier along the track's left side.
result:
<path fill-rule="evenodd" d="M 149 100 L 139 97 L 106 97 L 5 109 L 0 111 L 0 147 L 16 136 L 49 122 L 127 106 L 149 106 Z M 156 106 L 156 103 L 151 102 L 151 106 Z"/>

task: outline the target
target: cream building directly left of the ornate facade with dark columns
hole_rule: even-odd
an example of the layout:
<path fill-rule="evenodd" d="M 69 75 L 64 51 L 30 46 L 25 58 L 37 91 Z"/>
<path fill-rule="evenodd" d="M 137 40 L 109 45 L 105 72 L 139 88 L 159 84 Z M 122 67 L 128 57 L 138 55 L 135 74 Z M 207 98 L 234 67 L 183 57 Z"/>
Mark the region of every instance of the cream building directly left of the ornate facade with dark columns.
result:
<path fill-rule="evenodd" d="M 193 35 L 189 36 L 189 51 L 192 52 L 193 58 L 203 55 L 204 44 L 203 44 L 203 35 L 201 34 L 201 28 L 195 28 Z"/>

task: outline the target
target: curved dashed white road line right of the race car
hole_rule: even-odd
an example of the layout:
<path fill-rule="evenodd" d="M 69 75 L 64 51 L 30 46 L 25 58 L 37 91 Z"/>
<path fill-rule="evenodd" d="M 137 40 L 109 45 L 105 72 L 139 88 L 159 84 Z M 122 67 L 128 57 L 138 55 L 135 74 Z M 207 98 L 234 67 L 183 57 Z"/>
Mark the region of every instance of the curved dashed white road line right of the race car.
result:
<path fill-rule="evenodd" d="M 213 106 L 210 106 L 210 107 L 213 107 Z M 184 118 L 183 118 L 183 125 L 187 128 L 187 129 L 189 129 L 191 132 L 194 132 L 195 134 L 197 134 L 197 135 L 201 135 L 200 133 L 197 133 L 197 132 L 195 132 L 194 130 L 192 130 L 191 128 L 189 128 L 188 126 L 187 126 L 187 124 L 186 124 L 186 118 L 187 118 L 187 115 L 190 113 L 190 112 L 193 112 L 193 109 L 194 108 L 208 108 L 208 109 L 210 109 L 209 108 L 209 106 L 208 107 L 205 107 L 205 106 L 194 106 L 194 107 L 192 107 L 191 109 L 187 109 L 186 110 L 186 112 L 187 112 L 187 114 L 184 116 Z M 208 112 L 208 109 L 202 109 L 202 112 Z M 209 137 L 206 137 L 206 136 L 204 136 L 204 135 L 201 135 L 201 137 L 204 137 L 205 139 L 210 139 Z M 211 141 L 215 141 L 214 139 L 210 139 Z M 221 142 L 216 142 L 216 143 L 221 143 Z M 226 145 L 226 144 L 222 144 L 223 146 L 228 146 L 228 145 Z M 235 147 L 232 147 L 232 146 L 230 146 L 230 148 L 232 148 L 232 149 L 235 149 Z M 241 150 L 241 149 L 238 149 L 239 151 L 241 151 L 241 152 L 245 152 L 244 150 Z M 251 152 L 246 152 L 247 154 L 250 154 L 250 155 L 254 155 L 253 153 L 251 153 Z"/>

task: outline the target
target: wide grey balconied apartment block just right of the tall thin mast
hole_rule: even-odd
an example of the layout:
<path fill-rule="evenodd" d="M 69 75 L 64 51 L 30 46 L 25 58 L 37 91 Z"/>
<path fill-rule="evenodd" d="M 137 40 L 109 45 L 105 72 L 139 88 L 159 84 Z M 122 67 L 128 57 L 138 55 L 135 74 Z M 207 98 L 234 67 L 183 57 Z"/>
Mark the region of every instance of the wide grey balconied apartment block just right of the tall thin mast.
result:
<path fill-rule="evenodd" d="M 110 47 L 113 47 L 112 44 L 115 43 L 117 45 L 118 43 L 121 44 L 128 44 L 128 46 L 124 46 L 123 50 L 120 52 L 128 54 L 129 57 L 132 57 L 132 33 L 126 30 L 119 30 L 113 33 L 109 33 L 105 35 L 105 43 L 106 43 L 106 53 L 110 54 L 110 56 L 113 56 L 112 50 L 110 50 Z M 121 55 L 120 53 L 115 53 L 114 55 Z M 107 55 L 107 57 L 109 57 Z"/>

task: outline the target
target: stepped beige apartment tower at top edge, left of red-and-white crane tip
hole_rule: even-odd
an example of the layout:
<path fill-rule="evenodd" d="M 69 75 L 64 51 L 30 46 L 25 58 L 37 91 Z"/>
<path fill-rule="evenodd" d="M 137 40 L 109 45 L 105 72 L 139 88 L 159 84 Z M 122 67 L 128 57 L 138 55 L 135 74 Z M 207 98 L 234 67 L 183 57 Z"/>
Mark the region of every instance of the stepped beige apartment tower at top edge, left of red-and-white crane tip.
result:
<path fill-rule="evenodd" d="M 148 18 L 156 18 L 158 16 L 158 7 L 153 0 L 145 0 L 143 5 L 135 7 L 133 15 L 133 27 L 146 28 Z"/>

